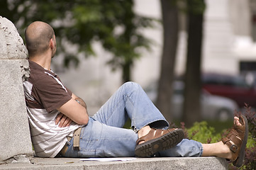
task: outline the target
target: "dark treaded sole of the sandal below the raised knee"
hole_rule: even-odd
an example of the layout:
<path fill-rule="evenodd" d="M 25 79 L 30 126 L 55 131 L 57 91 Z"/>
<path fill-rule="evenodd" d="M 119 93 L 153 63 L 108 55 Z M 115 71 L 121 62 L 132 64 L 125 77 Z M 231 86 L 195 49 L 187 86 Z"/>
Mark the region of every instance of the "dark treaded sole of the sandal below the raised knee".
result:
<path fill-rule="evenodd" d="M 181 129 L 173 130 L 161 137 L 144 142 L 135 147 L 135 155 L 138 157 L 150 157 L 156 152 L 164 151 L 176 146 L 184 138 L 184 132 Z"/>

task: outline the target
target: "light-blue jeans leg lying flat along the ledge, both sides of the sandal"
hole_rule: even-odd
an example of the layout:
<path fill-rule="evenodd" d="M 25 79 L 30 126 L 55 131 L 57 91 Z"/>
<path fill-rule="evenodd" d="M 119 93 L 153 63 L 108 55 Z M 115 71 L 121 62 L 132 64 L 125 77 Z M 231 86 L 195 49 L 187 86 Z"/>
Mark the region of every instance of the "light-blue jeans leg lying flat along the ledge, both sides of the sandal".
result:
<path fill-rule="evenodd" d="M 82 128 L 80 150 L 73 149 L 73 139 L 64 157 L 134 157 L 135 141 L 138 136 L 133 130 L 111 127 L 90 118 Z M 155 154 L 156 157 L 201 157 L 200 142 L 184 139 L 175 147 Z"/>

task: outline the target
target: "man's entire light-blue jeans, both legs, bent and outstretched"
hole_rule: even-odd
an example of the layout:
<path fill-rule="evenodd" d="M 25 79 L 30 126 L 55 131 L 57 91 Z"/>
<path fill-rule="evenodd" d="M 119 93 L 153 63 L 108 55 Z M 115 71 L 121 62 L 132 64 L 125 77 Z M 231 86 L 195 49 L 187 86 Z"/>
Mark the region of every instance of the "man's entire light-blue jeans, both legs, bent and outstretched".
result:
<path fill-rule="evenodd" d="M 122 128 L 130 118 L 133 130 Z M 141 86 L 123 84 L 82 128 L 79 151 L 73 149 L 73 138 L 64 157 L 134 157 L 138 135 L 145 125 L 168 128 L 169 123 L 154 106 Z M 200 157 L 200 142 L 182 140 L 176 147 L 157 153 L 161 157 Z"/>

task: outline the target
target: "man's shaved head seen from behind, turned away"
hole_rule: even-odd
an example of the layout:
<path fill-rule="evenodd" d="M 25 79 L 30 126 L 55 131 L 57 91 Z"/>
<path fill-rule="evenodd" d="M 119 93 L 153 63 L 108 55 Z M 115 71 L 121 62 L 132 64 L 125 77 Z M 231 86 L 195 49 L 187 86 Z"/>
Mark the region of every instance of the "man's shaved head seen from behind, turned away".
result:
<path fill-rule="evenodd" d="M 49 48 L 50 39 L 55 35 L 54 30 L 48 23 L 35 21 L 25 31 L 28 55 L 33 57 Z"/>

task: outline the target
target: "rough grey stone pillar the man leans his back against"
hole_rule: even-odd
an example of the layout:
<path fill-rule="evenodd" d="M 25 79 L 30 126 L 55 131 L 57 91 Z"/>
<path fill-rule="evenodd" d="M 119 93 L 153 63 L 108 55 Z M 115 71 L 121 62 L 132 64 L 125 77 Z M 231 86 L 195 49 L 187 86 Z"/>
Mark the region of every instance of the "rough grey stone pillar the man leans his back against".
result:
<path fill-rule="evenodd" d="M 33 156 L 22 85 L 29 76 L 28 52 L 13 23 L 1 16 L 0 40 L 0 163 L 16 162 Z"/>

